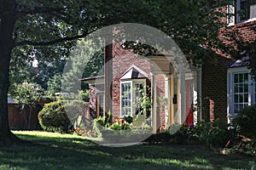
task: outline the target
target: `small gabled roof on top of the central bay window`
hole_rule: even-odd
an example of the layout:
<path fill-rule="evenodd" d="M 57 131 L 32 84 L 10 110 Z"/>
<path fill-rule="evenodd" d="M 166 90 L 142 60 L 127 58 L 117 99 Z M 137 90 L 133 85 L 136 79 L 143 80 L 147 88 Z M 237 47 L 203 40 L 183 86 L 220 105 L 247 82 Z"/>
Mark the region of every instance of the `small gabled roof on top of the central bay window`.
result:
<path fill-rule="evenodd" d="M 131 67 L 127 71 L 125 71 L 125 73 L 120 77 L 120 80 L 142 79 L 147 77 L 147 73 L 142 71 L 136 65 L 131 65 Z"/>

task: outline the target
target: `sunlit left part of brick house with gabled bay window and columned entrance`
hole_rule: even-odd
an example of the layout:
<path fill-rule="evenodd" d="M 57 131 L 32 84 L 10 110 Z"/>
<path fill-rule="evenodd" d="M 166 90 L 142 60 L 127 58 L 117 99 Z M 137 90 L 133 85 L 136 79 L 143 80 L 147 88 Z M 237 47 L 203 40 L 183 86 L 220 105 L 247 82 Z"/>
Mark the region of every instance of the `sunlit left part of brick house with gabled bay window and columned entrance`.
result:
<path fill-rule="evenodd" d="M 90 85 L 90 108 L 96 116 L 108 111 L 113 121 L 137 116 L 142 121 L 148 119 L 158 132 L 185 121 L 196 101 L 200 69 L 177 73 L 168 57 L 139 56 L 119 43 L 111 43 L 105 50 L 104 75 L 81 79 Z M 145 94 L 150 103 L 148 109 L 138 105 Z M 196 111 L 194 116 L 196 119 Z"/>

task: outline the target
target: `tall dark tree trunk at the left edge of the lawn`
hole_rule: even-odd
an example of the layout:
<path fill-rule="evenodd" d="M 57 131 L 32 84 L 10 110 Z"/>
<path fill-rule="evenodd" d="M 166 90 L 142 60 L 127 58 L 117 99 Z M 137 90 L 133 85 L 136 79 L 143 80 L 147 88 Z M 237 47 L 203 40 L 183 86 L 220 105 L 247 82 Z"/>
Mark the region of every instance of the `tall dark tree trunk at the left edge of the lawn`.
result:
<path fill-rule="evenodd" d="M 0 4 L 4 7 L 0 18 L 0 144 L 18 144 L 21 140 L 9 130 L 8 120 L 9 65 L 14 48 L 15 0 L 3 2 L 5 4 Z"/>

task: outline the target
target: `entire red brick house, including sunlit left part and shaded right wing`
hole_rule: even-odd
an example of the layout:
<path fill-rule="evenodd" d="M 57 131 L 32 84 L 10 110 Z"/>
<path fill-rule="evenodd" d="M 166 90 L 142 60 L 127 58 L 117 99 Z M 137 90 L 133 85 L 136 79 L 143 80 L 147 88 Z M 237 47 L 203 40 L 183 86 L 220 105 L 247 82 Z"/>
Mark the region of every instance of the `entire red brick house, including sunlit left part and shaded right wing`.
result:
<path fill-rule="evenodd" d="M 242 16 L 235 14 L 240 9 L 245 11 Z M 225 20 L 231 30 L 238 31 L 246 41 L 256 39 L 255 1 L 237 0 L 236 7 L 229 5 L 224 11 L 235 14 Z M 222 31 L 220 37 L 230 43 Z M 104 75 L 81 81 L 90 84 L 90 108 L 96 116 L 104 116 L 108 111 L 113 119 L 137 116 L 137 111 L 141 111 L 135 105 L 142 95 L 139 88 L 147 91 L 151 100 L 150 112 L 142 112 L 141 116 L 149 117 L 156 131 L 172 123 L 183 123 L 191 105 L 198 106 L 193 113 L 194 122 L 217 118 L 230 122 L 241 108 L 256 103 L 256 83 L 249 74 L 248 58 L 219 54 L 215 63 L 205 60 L 201 68 L 177 73 L 166 56 L 145 58 L 112 43 L 105 48 Z"/>

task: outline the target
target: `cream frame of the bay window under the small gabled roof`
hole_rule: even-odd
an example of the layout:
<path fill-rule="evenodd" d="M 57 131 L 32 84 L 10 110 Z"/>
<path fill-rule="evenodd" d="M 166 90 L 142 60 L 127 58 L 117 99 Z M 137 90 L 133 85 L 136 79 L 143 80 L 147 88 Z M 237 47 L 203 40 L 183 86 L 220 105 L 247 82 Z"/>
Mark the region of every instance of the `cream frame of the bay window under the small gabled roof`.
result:
<path fill-rule="evenodd" d="M 123 110 L 122 110 L 122 84 L 125 83 L 131 83 L 131 115 L 127 115 L 127 114 L 123 114 Z M 143 90 L 146 92 L 146 79 L 131 79 L 131 80 L 127 80 L 127 81 L 121 81 L 120 82 L 120 117 L 123 116 L 136 116 L 135 115 L 135 107 L 132 106 L 133 103 L 135 102 L 136 96 L 135 96 L 135 85 L 136 84 L 143 84 Z M 142 116 L 146 116 L 145 113 L 143 113 Z"/>

